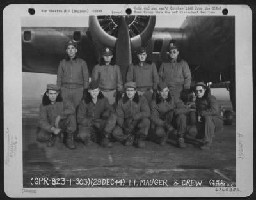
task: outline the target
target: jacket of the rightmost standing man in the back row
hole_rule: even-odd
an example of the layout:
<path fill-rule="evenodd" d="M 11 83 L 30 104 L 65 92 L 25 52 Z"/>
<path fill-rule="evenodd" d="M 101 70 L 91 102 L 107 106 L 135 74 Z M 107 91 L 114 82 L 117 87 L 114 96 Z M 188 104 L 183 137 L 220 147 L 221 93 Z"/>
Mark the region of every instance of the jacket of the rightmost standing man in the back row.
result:
<path fill-rule="evenodd" d="M 184 89 L 190 89 L 191 72 L 188 63 L 184 60 L 164 62 L 159 68 L 159 77 L 166 82 L 168 87 L 182 85 Z"/>

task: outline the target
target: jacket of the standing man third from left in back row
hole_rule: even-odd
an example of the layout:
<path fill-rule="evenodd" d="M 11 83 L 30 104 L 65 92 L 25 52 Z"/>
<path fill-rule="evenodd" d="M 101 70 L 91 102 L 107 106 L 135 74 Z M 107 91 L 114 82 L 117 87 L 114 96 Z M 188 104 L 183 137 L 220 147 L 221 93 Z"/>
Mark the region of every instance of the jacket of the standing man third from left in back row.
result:
<path fill-rule="evenodd" d="M 159 75 L 155 63 L 144 63 L 143 66 L 139 64 L 130 65 L 126 79 L 127 82 L 136 82 L 138 91 L 157 89 L 157 84 L 159 83 Z"/>

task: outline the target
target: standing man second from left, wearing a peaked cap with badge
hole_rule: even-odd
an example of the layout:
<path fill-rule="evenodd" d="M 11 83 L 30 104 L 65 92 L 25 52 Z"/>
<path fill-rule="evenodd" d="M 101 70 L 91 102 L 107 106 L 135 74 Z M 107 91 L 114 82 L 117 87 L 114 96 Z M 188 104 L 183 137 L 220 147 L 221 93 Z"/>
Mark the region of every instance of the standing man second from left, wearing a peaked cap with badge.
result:
<path fill-rule="evenodd" d="M 102 59 L 92 70 L 92 80 L 99 82 L 100 91 L 109 104 L 116 107 L 117 101 L 122 97 L 123 81 L 119 66 L 113 64 L 113 51 L 109 48 L 102 50 Z"/>

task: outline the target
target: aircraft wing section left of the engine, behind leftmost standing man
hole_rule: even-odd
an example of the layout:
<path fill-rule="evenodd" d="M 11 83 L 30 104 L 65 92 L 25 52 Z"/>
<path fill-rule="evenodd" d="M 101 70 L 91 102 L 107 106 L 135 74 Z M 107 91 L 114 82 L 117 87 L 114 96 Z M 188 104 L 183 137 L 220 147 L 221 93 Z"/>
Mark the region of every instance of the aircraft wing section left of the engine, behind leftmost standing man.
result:
<path fill-rule="evenodd" d="M 96 65 L 87 31 L 86 27 L 22 27 L 22 71 L 56 74 L 68 40 L 77 42 L 77 54 L 88 66 Z"/>

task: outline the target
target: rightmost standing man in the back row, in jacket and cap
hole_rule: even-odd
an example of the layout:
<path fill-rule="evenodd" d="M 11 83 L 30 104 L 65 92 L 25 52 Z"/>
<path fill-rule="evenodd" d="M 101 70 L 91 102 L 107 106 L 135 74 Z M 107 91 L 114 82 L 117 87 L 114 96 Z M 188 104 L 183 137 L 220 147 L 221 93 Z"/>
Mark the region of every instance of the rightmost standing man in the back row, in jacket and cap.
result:
<path fill-rule="evenodd" d="M 180 98 L 182 92 L 189 93 L 191 72 L 188 63 L 180 58 L 179 48 L 174 43 L 170 43 L 169 61 L 160 66 L 159 77 L 177 98 Z"/>

